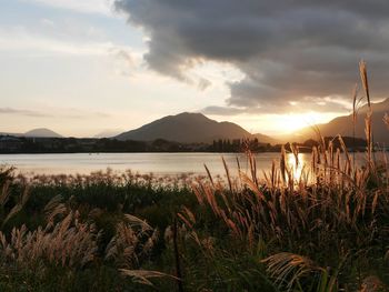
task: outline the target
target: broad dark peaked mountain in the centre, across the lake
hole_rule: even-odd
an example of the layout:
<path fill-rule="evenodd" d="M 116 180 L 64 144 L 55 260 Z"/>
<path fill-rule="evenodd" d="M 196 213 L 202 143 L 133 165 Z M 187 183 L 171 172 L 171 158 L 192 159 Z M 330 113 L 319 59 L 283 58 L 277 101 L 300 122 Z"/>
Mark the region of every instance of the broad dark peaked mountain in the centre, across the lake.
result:
<path fill-rule="evenodd" d="M 201 113 L 183 112 L 156 120 L 116 138 L 118 140 L 152 141 L 164 139 L 180 143 L 211 143 L 218 139 L 252 139 L 255 137 L 236 123 L 217 122 Z M 260 142 L 267 143 L 267 141 Z"/>

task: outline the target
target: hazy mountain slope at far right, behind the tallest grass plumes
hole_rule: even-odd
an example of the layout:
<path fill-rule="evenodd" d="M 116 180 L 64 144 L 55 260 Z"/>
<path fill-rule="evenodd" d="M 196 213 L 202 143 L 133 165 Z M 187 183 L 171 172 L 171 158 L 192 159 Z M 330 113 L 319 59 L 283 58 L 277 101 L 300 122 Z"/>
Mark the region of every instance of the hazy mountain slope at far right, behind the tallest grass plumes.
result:
<path fill-rule="evenodd" d="M 389 113 L 389 98 L 382 102 L 371 103 L 372 108 L 372 133 L 375 142 L 385 143 L 389 145 L 389 130 L 383 123 L 385 113 Z M 368 105 L 365 104 L 358 110 L 356 123 L 356 137 L 365 138 L 365 118 L 368 112 Z M 323 137 L 335 137 L 340 134 L 342 137 L 352 137 L 352 114 L 335 118 L 328 123 L 317 124 Z M 312 128 L 305 128 L 295 134 L 295 140 L 307 140 L 316 138 Z M 299 138 L 299 139 L 298 139 Z"/>

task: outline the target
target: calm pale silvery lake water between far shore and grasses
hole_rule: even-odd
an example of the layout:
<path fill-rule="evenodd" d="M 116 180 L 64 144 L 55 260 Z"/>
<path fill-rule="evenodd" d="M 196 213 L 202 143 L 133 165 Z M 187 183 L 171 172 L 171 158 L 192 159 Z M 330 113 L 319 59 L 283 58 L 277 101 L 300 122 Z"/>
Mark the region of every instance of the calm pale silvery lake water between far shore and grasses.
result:
<path fill-rule="evenodd" d="M 212 174 L 225 174 L 222 157 L 231 173 L 237 173 L 237 158 L 241 169 L 247 169 L 247 158 L 242 153 L 0 154 L 0 165 L 13 165 L 23 174 L 88 174 L 107 168 L 116 172 L 206 174 L 203 164 L 207 164 Z M 272 160 L 279 157 L 279 153 L 258 153 L 257 168 L 269 171 Z M 310 154 L 300 153 L 300 161 L 310 161 Z"/>

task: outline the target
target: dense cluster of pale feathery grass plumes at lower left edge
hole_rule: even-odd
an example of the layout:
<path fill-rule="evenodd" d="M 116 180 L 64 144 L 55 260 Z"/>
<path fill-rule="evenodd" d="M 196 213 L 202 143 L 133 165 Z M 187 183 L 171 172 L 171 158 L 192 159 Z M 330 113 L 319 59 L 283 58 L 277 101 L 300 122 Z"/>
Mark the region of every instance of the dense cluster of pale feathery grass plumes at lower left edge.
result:
<path fill-rule="evenodd" d="M 14 228 L 10 241 L 0 232 L 2 258 L 23 266 L 42 261 L 54 265 L 82 268 L 94 259 L 98 234 L 92 225 L 72 225 L 73 219 L 73 213 L 70 212 L 52 230 L 38 228 L 31 232 L 24 225 Z"/>

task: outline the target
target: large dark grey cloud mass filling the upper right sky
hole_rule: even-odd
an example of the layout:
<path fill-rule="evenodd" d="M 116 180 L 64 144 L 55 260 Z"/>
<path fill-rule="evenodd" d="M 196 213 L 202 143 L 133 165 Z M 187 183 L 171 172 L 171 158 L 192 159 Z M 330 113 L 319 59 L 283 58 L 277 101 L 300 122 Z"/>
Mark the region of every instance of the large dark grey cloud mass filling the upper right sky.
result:
<path fill-rule="evenodd" d="M 117 0 L 116 9 L 148 33 L 144 59 L 162 74 L 187 81 L 186 70 L 207 60 L 243 72 L 228 84 L 231 112 L 277 112 L 290 102 L 342 110 L 339 99 L 349 99 L 360 59 L 368 61 L 372 94 L 388 91 L 386 0 Z"/>

